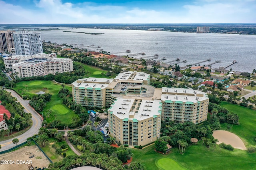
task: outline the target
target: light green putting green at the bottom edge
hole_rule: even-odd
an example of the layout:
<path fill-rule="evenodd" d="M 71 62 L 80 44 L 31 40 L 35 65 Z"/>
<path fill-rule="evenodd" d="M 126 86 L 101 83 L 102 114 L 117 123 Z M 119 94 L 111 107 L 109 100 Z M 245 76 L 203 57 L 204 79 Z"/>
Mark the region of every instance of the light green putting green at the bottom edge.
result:
<path fill-rule="evenodd" d="M 186 168 L 183 168 L 176 161 L 170 158 L 161 158 L 156 160 L 156 166 L 161 170 L 186 170 Z"/>

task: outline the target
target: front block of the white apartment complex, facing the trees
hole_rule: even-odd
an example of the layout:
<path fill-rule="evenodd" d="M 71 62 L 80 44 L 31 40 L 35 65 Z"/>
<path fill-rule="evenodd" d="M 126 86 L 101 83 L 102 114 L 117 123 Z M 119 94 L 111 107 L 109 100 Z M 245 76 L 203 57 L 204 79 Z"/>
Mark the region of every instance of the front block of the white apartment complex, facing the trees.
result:
<path fill-rule="evenodd" d="M 71 59 L 52 59 L 51 61 L 22 61 L 13 64 L 13 72 L 18 77 L 44 76 L 56 72 L 72 72 Z"/>

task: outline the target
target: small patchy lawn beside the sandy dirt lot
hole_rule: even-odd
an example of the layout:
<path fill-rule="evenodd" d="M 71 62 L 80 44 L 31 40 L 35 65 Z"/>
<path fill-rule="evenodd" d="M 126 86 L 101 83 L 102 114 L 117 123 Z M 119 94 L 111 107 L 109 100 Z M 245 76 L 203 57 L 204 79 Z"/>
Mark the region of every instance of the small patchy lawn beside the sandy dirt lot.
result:
<path fill-rule="evenodd" d="M 52 162 L 58 162 L 63 159 L 63 156 L 55 152 L 55 149 L 52 147 L 53 144 L 59 148 L 60 145 L 66 144 L 66 141 L 58 142 L 55 138 L 49 138 L 48 144 L 45 147 L 41 147 L 41 149 L 52 160 Z M 66 156 L 68 155 L 75 155 L 70 147 L 68 147 L 68 150 L 66 151 Z"/>

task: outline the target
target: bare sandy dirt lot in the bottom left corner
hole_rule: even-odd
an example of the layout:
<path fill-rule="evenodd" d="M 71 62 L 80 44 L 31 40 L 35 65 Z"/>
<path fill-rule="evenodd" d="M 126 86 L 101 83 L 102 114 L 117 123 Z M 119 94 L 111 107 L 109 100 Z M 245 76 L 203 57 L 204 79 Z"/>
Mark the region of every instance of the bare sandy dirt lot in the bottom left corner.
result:
<path fill-rule="evenodd" d="M 28 164 L 31 161 L 34 168 L 47 168 L 48 164 L 50 163 L 50 161 L 46 158 L 46 156 L 44 156 L 37 146 L 25 146 L 19 150 L 1 154 L 0 160 L 9 160 L 14 163 L 0 164 L 0 170 L 28 170 Z"/>

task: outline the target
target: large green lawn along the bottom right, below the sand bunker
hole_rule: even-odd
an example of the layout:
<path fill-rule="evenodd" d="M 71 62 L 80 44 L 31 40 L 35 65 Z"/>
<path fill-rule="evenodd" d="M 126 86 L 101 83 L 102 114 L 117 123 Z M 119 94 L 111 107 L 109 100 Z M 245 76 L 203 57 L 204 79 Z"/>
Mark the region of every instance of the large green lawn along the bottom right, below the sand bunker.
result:
<path fill-rule="evenodd" d="M 249 170 L 256 167 L 255 156 L 256 153 L 249 154 L 246 150 L 219 150 L 218 145 L 215 150 L 208 150 L 202 141 L 187 147 L 183 155 L 177 148 L 160 154 L 154 151 L 154 145 L 133 149 L 133 161 L 144 164 L 146 170 Z"/>

